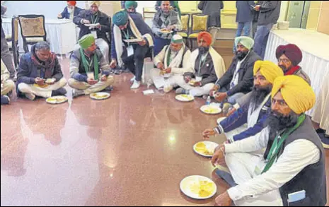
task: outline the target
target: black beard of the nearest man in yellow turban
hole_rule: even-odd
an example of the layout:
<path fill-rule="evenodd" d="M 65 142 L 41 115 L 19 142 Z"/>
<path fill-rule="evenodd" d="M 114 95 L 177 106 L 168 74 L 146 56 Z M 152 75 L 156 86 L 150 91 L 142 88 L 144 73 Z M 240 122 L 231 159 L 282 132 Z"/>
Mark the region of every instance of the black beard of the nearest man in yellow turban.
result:
<path fill-rule="evenodd" d="M 271 132 L 282 131 L 288 129 L 297 124 L 299 115 L 295 112 L 290 112 L 289 115 L 284 116 L 283 114 L 272 111 L 270 116 L 267 118 L 265 126 L 270 126 Z"/>

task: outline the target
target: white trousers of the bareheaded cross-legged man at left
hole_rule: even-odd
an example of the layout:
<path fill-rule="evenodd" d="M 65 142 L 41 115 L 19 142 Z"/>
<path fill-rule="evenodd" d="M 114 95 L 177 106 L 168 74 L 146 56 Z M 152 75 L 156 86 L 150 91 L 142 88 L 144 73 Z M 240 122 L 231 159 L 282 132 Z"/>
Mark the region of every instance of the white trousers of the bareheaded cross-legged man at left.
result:
<path fill-rule="evenodd" d="M 40 97 L 51 97 L 52 90 L 63 88 L 65 85 L 67 85 L 67 80 L 62 78 L 56 83 L 47 85 L 46 87 L 40 87 L 37 84 L 19 83 L 18 90 L 21 91 L 21 93 L 32 93 Z"/>

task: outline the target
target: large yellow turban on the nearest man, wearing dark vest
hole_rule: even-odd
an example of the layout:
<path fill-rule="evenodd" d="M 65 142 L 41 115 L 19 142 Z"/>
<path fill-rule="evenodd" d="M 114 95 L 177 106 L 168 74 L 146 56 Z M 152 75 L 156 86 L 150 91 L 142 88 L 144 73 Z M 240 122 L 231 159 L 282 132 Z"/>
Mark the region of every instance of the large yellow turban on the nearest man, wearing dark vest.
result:
<path fill-rule="evenodd" d="M 303 78 L 299 76 L 281 76 L 275 79 L 272 97 L 281 90 L 282 97 L 296 114 L 311 110 L 316 102 L 316 94 Z"/>

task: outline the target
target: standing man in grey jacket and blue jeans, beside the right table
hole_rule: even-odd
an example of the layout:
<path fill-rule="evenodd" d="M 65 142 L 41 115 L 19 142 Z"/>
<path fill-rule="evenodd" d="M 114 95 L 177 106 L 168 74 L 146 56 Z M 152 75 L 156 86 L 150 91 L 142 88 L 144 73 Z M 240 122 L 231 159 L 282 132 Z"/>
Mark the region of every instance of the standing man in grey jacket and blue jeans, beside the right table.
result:
<path fill-rule="evenodd" d="M 259 1 L 255 6 L 256 11 L 260 11 L 258 27 L 255 35 L 254 51 L 262 59 L 265 57 L 268 35 L 273 25 L 277 23 L 280 15 L 281 1 Z"/>

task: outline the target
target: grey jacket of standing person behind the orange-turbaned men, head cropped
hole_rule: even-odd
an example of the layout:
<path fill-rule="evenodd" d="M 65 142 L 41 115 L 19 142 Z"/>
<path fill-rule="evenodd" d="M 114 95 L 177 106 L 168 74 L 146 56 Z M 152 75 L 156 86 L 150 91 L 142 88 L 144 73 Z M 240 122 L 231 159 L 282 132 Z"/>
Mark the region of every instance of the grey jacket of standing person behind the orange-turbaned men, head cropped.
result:
<path fill-rule="evenodd" d="M 200 1 L 197 6 L 202 14 L 208 15 L 208 28 L 221 27 L 221 9 L 224 8 L 223 1 Z"/>

